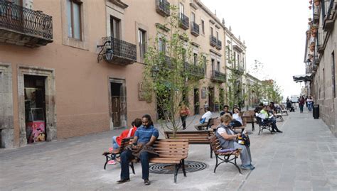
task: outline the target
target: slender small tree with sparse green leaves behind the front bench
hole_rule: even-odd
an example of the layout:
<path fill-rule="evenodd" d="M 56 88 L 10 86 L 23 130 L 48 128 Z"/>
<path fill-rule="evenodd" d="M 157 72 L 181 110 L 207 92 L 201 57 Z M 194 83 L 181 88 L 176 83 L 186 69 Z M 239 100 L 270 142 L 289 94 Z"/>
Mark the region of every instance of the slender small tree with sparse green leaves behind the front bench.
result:
<path fill-rule="evenodd" d="M 176 133 L 180 129 L 180 121 L 175 120 L 179 115 L 179 104 L 188 104 L 188 93 L 193 83 L 204 77 L 203 55 L 194 64 L 188 64 L 192 58 L 190 40 L 185 32 L 179 29 L 179 18 L 176 6 L 171 6 L 171 16 L 166 23 L 159 25 L 157 36 L 152 45 L 148 46 L 145 55 L 144 83 L 148 84 L 147 94 L 154 94 L 157 111 L 163 111 L 164 122 L 161 126 Z M 165 33 L 159 30 L 166 28 Z"/>

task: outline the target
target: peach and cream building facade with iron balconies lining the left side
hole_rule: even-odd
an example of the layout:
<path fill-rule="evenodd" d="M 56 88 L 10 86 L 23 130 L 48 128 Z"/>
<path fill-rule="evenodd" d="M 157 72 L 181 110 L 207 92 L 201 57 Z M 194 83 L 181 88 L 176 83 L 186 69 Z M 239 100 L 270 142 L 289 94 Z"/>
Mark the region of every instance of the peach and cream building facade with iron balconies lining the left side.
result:
<path fill-rule="evenodd" d="M 28 123 L 44 123 L 36 131 L 53 141 L 126 127 L 143 114 L 156 120 L 140 82 L 167 4 L 179 9 L 193 54 L 206 53 L 205 77 L 188 94 L 192 114 L 203 114 L 205 101 L 219 109 L 226 28 L 199 0 L 0 1 L 1 148 L 36 141 Z"/>

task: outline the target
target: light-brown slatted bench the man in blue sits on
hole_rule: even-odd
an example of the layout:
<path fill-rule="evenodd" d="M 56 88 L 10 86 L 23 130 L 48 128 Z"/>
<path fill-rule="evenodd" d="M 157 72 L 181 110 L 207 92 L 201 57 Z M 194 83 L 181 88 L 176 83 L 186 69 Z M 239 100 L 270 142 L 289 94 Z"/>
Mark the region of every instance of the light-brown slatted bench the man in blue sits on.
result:
<path fill-rule="evenodd" d="M 158 139 L 153 145 L 158 157 L 150 158 L 150 163 L 164 163 L 174 165 L 174 183 L 177 182 L 179 168 L 186 177 L 185 159 L 188 156 L 188 139 Z M 132 160 L 132 162 L 136 162 Z"/>

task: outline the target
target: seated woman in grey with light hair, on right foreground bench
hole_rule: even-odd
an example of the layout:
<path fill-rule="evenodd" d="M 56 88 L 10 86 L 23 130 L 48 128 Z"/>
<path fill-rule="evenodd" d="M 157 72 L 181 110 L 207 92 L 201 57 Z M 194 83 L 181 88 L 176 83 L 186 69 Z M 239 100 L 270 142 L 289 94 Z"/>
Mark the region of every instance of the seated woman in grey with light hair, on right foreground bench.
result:
<path fill-rule="evenodd" d="M 245 170 L 253 170 L 255 167 L 252 165 L 252 157 L 250 155 L 250 150 L 246 146 L 240 145 L 236 142 L 237 137 L 241 134 L 235 134 L 234 131 L 230 129 L 230 121 L 232 121 L 232 117 L 228 114 L 221 116 L 221 124 L 218 126 L 218 129 L 215 135 L 218 137 L 220 141 L 220 146 L 222 148 L 242 148 L 240 153 L 241 158 L 241 168 Z"/>

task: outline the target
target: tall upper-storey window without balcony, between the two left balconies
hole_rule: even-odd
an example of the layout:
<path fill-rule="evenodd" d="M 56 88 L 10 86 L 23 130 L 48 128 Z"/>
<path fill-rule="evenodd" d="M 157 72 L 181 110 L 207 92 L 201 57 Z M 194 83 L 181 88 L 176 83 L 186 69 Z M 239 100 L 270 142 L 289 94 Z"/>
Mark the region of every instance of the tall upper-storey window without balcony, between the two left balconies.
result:
<path fill-rule="evenodd" d="M 67 0 L 68 37 L 82 40 L 81 3 Z"/>

